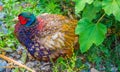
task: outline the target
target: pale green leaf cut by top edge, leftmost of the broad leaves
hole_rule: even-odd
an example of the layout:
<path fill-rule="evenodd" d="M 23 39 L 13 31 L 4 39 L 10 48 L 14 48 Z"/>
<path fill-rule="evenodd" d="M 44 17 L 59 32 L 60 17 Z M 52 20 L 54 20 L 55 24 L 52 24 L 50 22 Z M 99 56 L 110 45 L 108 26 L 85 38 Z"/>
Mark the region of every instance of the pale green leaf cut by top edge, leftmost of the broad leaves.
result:
<path fill-rule="evenodd" d="M 86 3 L 91 4 L 93 0 L 76 0 L 75 2 L 75 13 L 78 14 L 84 9 Z"/>

